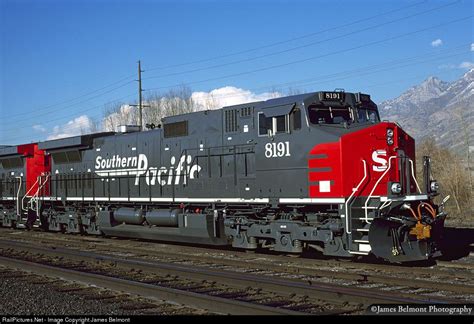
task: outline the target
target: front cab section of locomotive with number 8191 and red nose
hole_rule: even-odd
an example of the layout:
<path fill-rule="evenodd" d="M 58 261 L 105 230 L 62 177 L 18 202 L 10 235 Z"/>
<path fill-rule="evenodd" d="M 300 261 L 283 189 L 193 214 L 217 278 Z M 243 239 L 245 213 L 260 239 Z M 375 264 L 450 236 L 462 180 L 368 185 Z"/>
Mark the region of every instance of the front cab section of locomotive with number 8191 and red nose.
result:
<path fill-rule="evenodd" d="M 291 238 L 275 235 L 265 244 L 287 252 L 302 245 L 327 255 L 374 254 L 391 262 L 439 255 L 446 215 L 416 180 L 414 139 L 398 124 L 381 122 L 369 95 L 317 92 L 268 100 L 256 109 L 260 193 L 279 198 L 273 217 L 305 222 Z M 308 228 L 316 234 L 299 235 Z"/>

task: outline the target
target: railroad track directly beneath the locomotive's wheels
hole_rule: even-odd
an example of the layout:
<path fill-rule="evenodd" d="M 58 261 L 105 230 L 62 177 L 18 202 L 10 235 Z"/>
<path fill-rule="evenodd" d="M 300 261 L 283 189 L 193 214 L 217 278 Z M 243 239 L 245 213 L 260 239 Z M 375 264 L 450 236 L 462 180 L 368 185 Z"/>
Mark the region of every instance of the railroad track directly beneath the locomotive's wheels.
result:
<path fill-rule="evenodd" d="M 2 229 L 0 228 L 0 233 L 5 231 L 7 234 L 19 234 L 24 232 L 12 231 L 9 229 Z M 92 249 L 101 249 L 104 250 L 110 247 L 110 251 L 117 250 L 120 247 L 120 250 L 123 251 L 124 254 L 132 253 L 132 254 L 143 254 L 143 255 L 150 255 L 150 254 L 157 254 L 159 253 L 160 256 L 164 257 L 176 257 L 178 254 L 176 251 L 179 251 L 183 255 L 186 255 L 187 259 L 212 259 L 213 256 L 216 256 L 219 253 L 225 253 L 232 256 L 238 256 L 241 259 L 245 259 L 245 261 L 251 259 L 262 259 L 262 258 L 271 258 L 272 261 L 277 261 L 279 263 L 286 263 L 287 266 L 298 267 L 298 268 L 317 268 L 318 271 L 324 268 L 346 268 L 348 271 L 367 271 L 367 272 L 388 272 L 388 273 L 400 273 L 400 274 L 410 274 L 410 275 L 417 275 L 417 276 L 426 276 L 431 277 L 438 271 L 445 271 L 448 275 L 452 274 L 453 269 L 462 269 L 467 271 L 474 271 L 474 262 L 471 263 L 462 263 L 462 262 L 446 262 L 446 261 L 436 261 L 436 264 L 430 265 L 427 267 L 426 265 L 416 265 L 416 266 L 406 266 L 406 265 L 396 265 L 396 264 L 385 264 L 380 262 L 379 260 L 373 259 L 363 259 L 362 262 L 355 261 L 355 260 L 336 260 L 334 258 L 325 258 L 321 255 L 317 254 L 310 254 L 310 255 L 301 255 L 298 258 L 288 258 L 288 256 L 282 256 L 280 254 L 272 254 L 271 252 L 265 252 L 253 254 L 253 251 L 247 252 L 240 252 L 234 249 L 227 249 L 223 247 L 196 247 L 196 246 L 188 246 L 185 244 L 168 244 L 168 243 L 160 243 L 160 242 L 149 242 L 149 241 L 140 241 L 137 239 L 120 239 L 114 237 L 89 237 L 89 236 L 79 236 L 74 234 L 61 234 L 61 233 L 47 233 L 47 232 L 31 232 L 32 235 L 29 235 L 27 238 L 17 236 L 17 239 L 20 240 L 40 240 L 41 242 L 46 242 L 50 244 L 59 244 L 60 242 L 64 242 L 68 245 L 82 245 L 88 244 L 88 248 Z M 38 235 L 35 237 L 34 235 Z M 12 238 L 15 235 L 12 236 Z M 96 245 L 99 244 L 99 245 Z M 144 246 L 152 246 L 144 247 Z M 160 248 L 161 247 L 161 248 Z M 175 252 L 168 252 L 168 248 L 172 247 Z M 81 248 L 84 248 L 81 246 Z M 248 252 L 251 252 L 250 254 Z M 472 253 L 471 253 L 472 254 Z M 250 256 L 249 256 L 250 255 Z M 252 256 L 255 255 L 255 256 Z M 258 255 L 258 256 L 257 256 Z M 260 257 L 261 256 L 261 257 Z M 474 259 L 474 255 L 470 256 Z M 214 259 L 218 259 L 214 258 Z M 221 260 L 226 259 L 222 257 Z M 291 262 L 289 261 L 291 260 Z M 290 264 L 291 263 L 291 264 Z M 458 276 L 463 276 L 462 273 L 457 273 Z M 472 273 L 468 273 L 466 279 L 472 279 Z"/>

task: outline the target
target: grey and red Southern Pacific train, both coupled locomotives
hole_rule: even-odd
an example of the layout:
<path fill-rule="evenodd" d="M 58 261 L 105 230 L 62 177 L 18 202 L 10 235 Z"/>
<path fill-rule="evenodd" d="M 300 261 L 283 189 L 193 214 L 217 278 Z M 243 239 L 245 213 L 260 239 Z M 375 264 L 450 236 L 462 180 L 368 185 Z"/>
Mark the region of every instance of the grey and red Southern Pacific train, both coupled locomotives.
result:
<path fill-rule="evenodd" d="M 158 128 L 0 148 L 0 222 L 283 253 L 441 254 L 446 213 L 415 142 L 370 95 L 319 91 Z"/>

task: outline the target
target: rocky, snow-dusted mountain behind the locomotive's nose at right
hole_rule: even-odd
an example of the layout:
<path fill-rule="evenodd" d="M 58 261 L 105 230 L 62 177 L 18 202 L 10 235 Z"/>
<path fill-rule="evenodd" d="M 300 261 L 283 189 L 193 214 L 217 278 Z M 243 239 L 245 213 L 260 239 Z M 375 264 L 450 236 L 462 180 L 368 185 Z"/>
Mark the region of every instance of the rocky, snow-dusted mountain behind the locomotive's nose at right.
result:
<path fill-rule="evenodd" d="M 378 106 L 383 119 L 401 124 L 417 142 L 433 137 L 460 154 L 474 150 L 474 69 L 451 83 L 429 77 Z"/>

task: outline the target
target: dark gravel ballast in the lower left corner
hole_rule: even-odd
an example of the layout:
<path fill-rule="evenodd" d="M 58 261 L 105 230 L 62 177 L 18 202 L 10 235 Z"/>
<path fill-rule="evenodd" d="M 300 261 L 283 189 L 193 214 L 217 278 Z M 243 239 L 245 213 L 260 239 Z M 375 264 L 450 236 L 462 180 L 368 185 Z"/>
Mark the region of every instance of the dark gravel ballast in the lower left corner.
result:
<path fill-rule="evenodd" d="M 0 261 L 0 314 L 19 315 L 204 315 L 209 312 L 156 298 L 113 291 L 97 285 L 25 271 L 28 265 Z M 15 268 L 14 268 L 15 267 Z M 22 269 L 19 269 L 19 268 Z M 38 271 L 37 271 L 38 272 Z M 83 280 L 86 281 L 86 280 Z"/>

